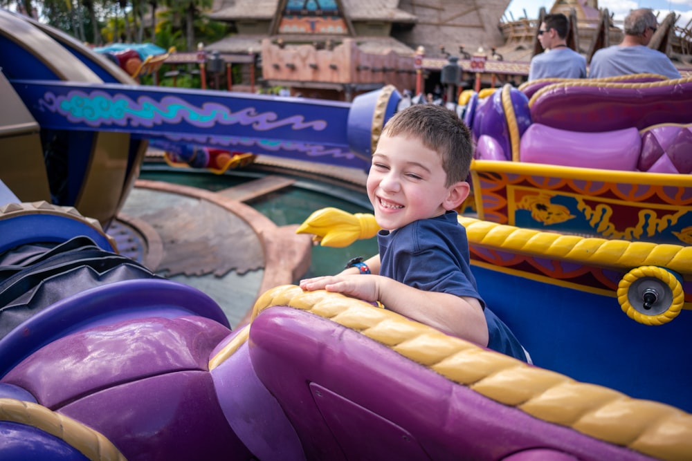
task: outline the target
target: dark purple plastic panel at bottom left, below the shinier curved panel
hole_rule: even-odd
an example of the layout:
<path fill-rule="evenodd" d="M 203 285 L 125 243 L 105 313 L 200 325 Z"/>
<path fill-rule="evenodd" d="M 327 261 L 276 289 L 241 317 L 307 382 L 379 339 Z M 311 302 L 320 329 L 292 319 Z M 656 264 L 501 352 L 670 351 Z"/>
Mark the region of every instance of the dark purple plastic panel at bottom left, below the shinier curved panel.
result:
<path fill-rule="evenodd" d="M 64 406 L 60 413 L 105 435 L 128 461 L 252 459 L 229 428 L 208 372 L 122 384 Z"/>

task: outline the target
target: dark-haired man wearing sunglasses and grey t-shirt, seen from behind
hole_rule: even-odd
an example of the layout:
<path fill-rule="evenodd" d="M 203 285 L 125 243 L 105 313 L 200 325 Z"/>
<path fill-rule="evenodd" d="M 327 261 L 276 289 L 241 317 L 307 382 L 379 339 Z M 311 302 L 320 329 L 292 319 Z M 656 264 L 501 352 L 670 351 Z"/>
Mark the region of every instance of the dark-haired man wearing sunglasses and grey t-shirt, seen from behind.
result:
<path fill-rule="evenodd" d="M 543 17 L 538 28 L 538 41 L 545 51 L 531 59 L 529 82 L 546 77 L 586 77 L 586 58 L 567 47 L 569 24 L 562 13 Z"/>

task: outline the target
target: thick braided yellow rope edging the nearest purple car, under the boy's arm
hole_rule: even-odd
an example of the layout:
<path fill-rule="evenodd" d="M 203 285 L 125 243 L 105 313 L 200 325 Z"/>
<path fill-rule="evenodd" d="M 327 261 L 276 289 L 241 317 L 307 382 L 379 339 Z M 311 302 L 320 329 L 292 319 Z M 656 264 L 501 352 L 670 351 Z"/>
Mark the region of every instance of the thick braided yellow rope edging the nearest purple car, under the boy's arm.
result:
<path fill-rule="evenodd" d="M 253 318 L 274 305 L 331 319 L 450 381 L 540 420 L 662 460 L 689 460 L 692 453 L 692 415 L 673 406 L 575 382 L 342 294 L 280 286 L 257 299 Z"/>

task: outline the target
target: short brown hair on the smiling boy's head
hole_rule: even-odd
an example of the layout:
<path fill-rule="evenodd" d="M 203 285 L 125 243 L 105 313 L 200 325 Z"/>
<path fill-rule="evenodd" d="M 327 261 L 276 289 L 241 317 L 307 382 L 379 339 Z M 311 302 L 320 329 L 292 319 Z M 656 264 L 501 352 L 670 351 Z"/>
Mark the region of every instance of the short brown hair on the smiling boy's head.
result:
<path fill-rule="evenodd" d="M 437 104 L 414 104 L 394 114 L 382 134 L 417 138 L 439 153 L 447 175 L 445 187 L 468 177 L 473 158 L 471 132 L 454 111 Z"/>

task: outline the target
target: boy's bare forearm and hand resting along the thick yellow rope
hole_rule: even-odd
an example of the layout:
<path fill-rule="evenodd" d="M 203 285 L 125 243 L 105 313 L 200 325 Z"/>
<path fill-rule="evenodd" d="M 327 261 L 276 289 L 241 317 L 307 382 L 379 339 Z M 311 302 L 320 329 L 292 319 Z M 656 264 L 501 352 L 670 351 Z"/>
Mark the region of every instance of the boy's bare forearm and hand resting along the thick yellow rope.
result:
<path fill-rule="evenodd" d="M 448 335 L 480 346 L 488 345 L 488 326 L 483 309 L 475 298 L 419 290 L 379 275 L 338 274 L 316 277 L 300 281 L 300 288 L 340 292 L 365 301 L 381 301 L 389 310 Z"/>

